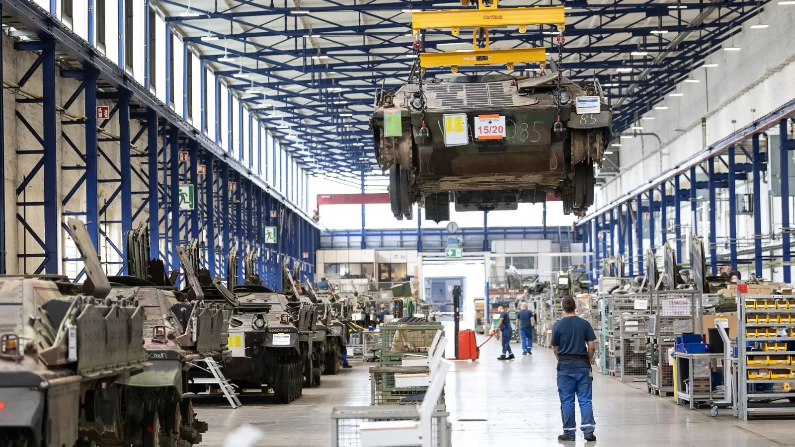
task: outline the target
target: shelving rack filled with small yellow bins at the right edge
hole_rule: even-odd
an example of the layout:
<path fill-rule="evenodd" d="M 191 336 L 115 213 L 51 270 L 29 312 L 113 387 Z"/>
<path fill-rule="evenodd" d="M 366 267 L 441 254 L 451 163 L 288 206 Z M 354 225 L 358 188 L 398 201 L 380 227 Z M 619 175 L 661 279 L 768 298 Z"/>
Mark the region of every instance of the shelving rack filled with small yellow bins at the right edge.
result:
<path fill-rule="evenodd" d="M 738 352 L 736 415 L 795 416 L 795 296 L 738 293 L 737 315 L 737 346 L 754 351 Z"/>

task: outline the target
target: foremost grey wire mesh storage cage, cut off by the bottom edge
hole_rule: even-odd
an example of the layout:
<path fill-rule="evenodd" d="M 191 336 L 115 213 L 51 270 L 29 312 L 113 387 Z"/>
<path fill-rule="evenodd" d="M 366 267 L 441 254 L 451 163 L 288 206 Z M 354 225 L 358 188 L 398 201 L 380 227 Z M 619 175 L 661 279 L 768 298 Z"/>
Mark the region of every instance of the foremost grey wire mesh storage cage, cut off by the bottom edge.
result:
<path fill-rule="evenodd" d="M 433 447 L 452 445 L 450 414 L 444 407 L 433 413 Z M 344 406 L 332 409 L 331 447 L 361 447 L 359 426 L 369 421 L 410 421 L 417 419 L 417 409 L 409 406 Z M 415 447 L 406 445 L 405 447 Z M 417 446 L 418 447 L 418 446 Z"/>

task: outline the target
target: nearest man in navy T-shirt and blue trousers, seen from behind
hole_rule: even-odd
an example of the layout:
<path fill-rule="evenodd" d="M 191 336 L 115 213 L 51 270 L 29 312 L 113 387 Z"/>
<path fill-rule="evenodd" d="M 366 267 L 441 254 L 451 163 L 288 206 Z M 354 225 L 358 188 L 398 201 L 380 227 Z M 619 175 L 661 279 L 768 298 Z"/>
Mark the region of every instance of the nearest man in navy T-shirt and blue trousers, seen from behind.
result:
<path fill-rule="evenodd" d="M 594 434 L 594 411 L 591 404 L 593 372 L 591 359 L 594 356 L 596 335 L 588 321 L 577 317 L 574 298 L 565 297 L 562 302 L 563 318 L 552 328 L 552 348 L 557 358 L 557 392 L 560 395 L 560 415 L 563 418 L 563 434 L 558 441 L 575 441 L 577 423 L 574 415 L 574 398 L 580 402 L 580 429 L 585 441 L 596 441 Z"/>

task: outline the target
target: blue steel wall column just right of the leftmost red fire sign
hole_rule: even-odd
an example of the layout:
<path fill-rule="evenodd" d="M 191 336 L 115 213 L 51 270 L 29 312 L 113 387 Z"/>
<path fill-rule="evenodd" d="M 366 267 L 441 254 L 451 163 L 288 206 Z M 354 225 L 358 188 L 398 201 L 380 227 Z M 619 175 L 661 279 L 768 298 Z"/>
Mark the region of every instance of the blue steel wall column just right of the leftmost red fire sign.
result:
<path fill-rule="evenodd" d="M 133 231 L 133 169 L 130 164 L 130 91 L 118 91 L 118 170 L 121 171 L 122 180 L 122 240 L 130 231 Z M 96 116 L 96 115 L 94 115 Z M 150 181 L 151 182 L 151 181 Z M 155 182 L 157 183 L 157 182 Z M 122 274 L 127 274 L 127 244 L 122 243 L 122 253 L 125 255 Z"/>

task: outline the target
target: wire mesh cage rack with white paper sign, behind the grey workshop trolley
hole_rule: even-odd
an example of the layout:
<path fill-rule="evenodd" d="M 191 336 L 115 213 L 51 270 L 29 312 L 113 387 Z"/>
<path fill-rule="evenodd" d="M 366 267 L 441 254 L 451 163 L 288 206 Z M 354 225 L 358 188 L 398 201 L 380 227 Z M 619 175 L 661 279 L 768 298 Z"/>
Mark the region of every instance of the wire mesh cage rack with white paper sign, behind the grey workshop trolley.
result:
<path fill-rule="evenodd" d="M 668 349 L 682 332 L 701 333 L 702 297 L 697 290 L 656 291 L 651 294 L 646 333 L 646 385 L 650 393 L 673 394 L 673 364 Z"/>

